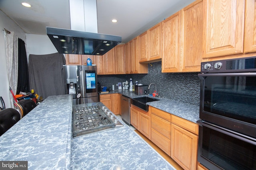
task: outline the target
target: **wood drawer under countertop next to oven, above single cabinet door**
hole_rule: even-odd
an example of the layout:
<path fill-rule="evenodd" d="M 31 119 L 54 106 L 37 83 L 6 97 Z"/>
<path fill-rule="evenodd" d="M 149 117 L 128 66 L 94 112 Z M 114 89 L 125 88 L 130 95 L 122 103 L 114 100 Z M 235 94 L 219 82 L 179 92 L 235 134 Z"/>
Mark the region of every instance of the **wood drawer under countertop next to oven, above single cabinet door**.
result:
<path fill-rule="evenodd" d="M 186 129 L 187 131 L 190 131 L 190 132 L 198 135 L 199 129 L 198 129 L 198 124 L 196 124 L 196 123 L 182 119 L 175 115 L 172 115 L 172 123 L 182 127 L 183 129 Z"/>

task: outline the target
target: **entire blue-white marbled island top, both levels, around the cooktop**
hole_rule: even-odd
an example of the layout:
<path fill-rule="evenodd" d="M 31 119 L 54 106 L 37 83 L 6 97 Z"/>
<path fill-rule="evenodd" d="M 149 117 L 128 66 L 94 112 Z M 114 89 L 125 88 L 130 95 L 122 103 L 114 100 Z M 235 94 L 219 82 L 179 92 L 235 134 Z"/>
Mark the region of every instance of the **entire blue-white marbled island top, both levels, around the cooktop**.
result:
<path fill-rule="evenodd" d="M 72 95 L 49 96 L 4 133 L 0 160 L 31 170 L 174 169 L 125 124 L 73 138 Z"/>

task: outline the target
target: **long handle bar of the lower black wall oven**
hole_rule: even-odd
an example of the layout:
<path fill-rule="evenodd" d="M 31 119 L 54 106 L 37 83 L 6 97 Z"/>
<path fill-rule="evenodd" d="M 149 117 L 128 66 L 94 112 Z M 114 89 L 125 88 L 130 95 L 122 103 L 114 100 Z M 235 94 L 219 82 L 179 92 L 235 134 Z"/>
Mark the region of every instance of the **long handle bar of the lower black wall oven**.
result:
<path fill-rule="evenodd" d="M 224 127 L 220 127 L 218 125 L 214 125 L 212 123 L 209 123 L 209 122 L 206 122 L 206 121 L 203 121 L 203 120 L 198 120 L 196 121 L 196 123 L 199 124 L 199 126 L 205 126 L 205 127 L 208 127 L 210 129 L 213 129 L 215 131 L 218 131 L 220 133 L 224 133 L 226 135 L 229 135 L 229 136 L 232 136 L 234 138 L 237 138 L 237 139 L 240 139 L 242 141 L 245 141 L 245 142 L 248 142 L 248 143 L 251 143 L 252 145 L 256 145 L 256 139 L 252 138 L 252 137 L 249 137 L 249 136 L 246 136 L 246 135 L 243 135 L 241 133 L 237 133 L 235 131 L 231 131 L 229 129 L 226 129 Z"/>

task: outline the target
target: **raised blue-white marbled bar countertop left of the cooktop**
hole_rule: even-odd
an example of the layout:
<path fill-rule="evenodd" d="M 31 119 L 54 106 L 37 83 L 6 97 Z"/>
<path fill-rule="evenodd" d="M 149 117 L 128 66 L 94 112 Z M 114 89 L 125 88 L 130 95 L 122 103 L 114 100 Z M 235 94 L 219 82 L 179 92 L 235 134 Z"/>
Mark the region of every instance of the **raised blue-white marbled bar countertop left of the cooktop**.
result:
<path fill-rule="evenodd" d="M 72 95 L 49 96 L 0 137 L 0 160 L 69 170 L 71 125 Z"/>

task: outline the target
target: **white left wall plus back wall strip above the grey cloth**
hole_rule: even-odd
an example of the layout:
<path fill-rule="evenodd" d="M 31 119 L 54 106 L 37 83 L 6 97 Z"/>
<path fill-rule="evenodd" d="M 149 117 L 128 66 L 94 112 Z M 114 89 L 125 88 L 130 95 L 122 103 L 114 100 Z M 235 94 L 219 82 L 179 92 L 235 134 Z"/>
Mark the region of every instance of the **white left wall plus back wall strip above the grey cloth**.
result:
<path fill-rule="evenodd" d="M 26 34 L 24 31 L 2 11 L 0 11 L 0 96 L 4 99 L 6 108 L 12 107 L 10 103 L 10 90 L 6 70 L 6 51 L 3 29 L 14 31 L 26 44 L 27 58 L 30 54 L 43 55 L 57 53 L 58 51 L 47 35 Z M 28 58 L 29 59 L 29 58 Z"/>

